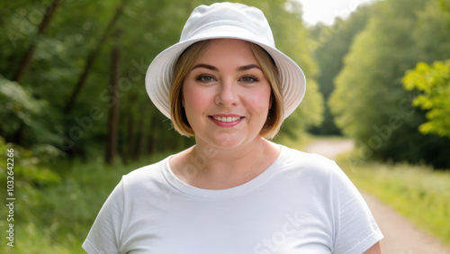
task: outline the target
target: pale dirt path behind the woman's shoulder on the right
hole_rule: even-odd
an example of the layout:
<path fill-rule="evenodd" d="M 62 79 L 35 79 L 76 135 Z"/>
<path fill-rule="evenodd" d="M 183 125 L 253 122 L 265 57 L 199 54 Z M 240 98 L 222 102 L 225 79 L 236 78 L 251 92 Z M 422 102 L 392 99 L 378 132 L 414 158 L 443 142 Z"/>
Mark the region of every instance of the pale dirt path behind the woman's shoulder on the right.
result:
<path fill-rule="evenodd" d="M 353 141 L 315 141 L 307 147 L 308 152 L 319 153 L 329 159 L 334 159 L 339 153 L 352 150 Z M 373 195 L 360 191 L 365 197 L 375 220 L 383 231 L 381 241 L 383 254 L 446 254 L 450 247 L 443 245 L 440 240 L 419 231 L 419 229 L 383 204 Z"/>

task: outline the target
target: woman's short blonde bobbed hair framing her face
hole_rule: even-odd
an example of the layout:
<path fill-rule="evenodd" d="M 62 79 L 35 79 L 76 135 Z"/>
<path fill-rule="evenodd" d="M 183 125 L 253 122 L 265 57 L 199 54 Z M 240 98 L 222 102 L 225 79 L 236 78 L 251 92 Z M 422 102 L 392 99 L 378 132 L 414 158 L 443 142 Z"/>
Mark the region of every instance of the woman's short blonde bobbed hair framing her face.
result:
<path fill-rule="evenodd" d="M 202 55 L 202 52 L 206 50 L 210 43 L 211 40 L 193 43 L 193 45 L 184 50 L 175 64 L 174 77 L 170 84 L 170 116 L 176 132 L 184 136 L 189 137 L 195 134 L 187 121 L 183 106 L 184 77 L 189 74 L 195 61 Z M 280 131 L 284 121 L 284 99 L 278 68 L 276 68 L 274 59 L 270 57 L 266 50 L 252 42 L 247 41 L 247 44 L 261 66 L 263 74 L 269 81 L 272 90 L 272 104 L 269 106 L 266 122 L 259 132 L 263 138 L 270 140 Z"/>

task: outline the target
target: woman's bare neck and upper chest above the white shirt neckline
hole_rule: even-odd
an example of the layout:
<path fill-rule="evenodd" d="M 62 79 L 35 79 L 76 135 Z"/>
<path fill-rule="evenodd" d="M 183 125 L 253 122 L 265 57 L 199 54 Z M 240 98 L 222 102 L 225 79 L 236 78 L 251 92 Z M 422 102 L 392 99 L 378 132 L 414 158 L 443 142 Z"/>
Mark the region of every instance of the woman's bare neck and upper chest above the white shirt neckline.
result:
<path fill-rule="evenodd" d="M 175 156 L 171 167 L 175 176 L 186 184 L 225 189 L 257 177 L 275 161 L 278 154 L 279 148 L 263 138 L 233 149 L 220 149 L 197 142 Z"/>

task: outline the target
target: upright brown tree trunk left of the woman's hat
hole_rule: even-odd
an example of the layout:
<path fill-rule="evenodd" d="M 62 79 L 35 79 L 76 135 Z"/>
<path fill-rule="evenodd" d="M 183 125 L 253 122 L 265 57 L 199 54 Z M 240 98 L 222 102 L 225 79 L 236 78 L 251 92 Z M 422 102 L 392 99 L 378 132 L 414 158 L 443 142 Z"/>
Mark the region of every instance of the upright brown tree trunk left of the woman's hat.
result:
<path fill-rule="evenodd" d="M 119 125 L 119 77 L 121 74 L 120 61 L 121 61 L 121 51 L 119 48 L 119 43 L 117 43 L 118 33 L 115 34 L 115 45 L 112 46 L 112 68 L 111 68 L 111 86 L 110 92 L 110 108 L 109 118 L 108 118 L 108 141 L 106 144 L 106 156 L 105 161 L 107 164 L 112 164 L 114 161 L 116 151 L 117 151 L 117 136 L 118 136 L 118 125 Z"/>

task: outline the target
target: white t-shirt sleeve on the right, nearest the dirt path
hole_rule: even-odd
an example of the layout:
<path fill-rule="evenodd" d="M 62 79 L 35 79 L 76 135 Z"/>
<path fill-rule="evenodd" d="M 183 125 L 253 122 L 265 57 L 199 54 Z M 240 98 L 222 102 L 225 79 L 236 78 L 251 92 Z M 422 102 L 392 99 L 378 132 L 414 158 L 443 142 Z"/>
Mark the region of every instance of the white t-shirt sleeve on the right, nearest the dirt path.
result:
<path fill-rule="evenodd" d="M 336 165 L 336 163 L 334 163 Z M 336 165 L 330 177 L 334 210 L 335 254 L 361 254 L 383 239 L 363 196 Z"/>

